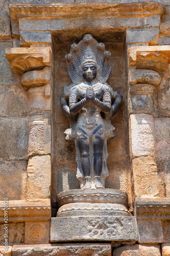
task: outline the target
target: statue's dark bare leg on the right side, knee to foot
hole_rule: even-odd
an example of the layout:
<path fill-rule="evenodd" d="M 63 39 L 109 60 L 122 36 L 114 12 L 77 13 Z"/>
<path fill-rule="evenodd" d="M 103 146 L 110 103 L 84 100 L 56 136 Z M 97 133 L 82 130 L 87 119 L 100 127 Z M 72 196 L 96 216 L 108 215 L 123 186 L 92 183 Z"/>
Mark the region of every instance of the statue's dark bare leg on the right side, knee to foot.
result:
<path fill-rule="evenodd" d="M 104 188 L 101 183 L 101 173 L 103 167 L 103 147 L 104 139 L 95 136 L 93 139 L 93 156 L 94 156 L 94 180 L 96 188 Z"/>

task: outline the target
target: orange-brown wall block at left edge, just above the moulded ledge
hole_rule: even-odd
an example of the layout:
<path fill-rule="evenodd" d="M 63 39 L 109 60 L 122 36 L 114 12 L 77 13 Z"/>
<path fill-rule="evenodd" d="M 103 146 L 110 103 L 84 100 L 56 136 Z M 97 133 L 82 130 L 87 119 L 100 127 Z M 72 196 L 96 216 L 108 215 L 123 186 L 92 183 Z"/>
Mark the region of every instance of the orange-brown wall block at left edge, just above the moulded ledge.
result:
<path fill-rule="evenodd" d="M 0 200 L 25 199 L 27 161 L 0 161 Z"/>

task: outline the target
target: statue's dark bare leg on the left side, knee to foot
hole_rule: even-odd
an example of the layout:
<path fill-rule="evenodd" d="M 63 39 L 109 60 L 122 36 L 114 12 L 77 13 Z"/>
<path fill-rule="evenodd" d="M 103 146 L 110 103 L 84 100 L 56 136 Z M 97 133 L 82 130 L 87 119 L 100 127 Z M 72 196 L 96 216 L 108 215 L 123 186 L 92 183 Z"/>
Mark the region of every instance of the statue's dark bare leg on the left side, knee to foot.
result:
<path fill-rule="evenodd" d="M 91 188 L 89 145 L 86 143 L 87 139 L 88 138 L 77 139 L 77 144 L 81 155 L 82 169 L 85 176 L 85 185 L 82 187 L 84 189 Z"/>

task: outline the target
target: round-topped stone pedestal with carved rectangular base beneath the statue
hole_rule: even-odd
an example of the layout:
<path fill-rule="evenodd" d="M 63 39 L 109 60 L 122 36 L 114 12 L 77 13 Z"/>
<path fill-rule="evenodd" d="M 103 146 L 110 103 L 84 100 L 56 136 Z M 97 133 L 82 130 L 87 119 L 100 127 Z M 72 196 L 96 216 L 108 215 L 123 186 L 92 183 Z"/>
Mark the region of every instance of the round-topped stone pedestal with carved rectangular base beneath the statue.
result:
<path fill-rule="evenodd" d="M 136 241 L 136 218 L 127 203 L 127 194 L 118 189 L 60 193 L 57 217 L 51 219 L 51 242 Z"/>

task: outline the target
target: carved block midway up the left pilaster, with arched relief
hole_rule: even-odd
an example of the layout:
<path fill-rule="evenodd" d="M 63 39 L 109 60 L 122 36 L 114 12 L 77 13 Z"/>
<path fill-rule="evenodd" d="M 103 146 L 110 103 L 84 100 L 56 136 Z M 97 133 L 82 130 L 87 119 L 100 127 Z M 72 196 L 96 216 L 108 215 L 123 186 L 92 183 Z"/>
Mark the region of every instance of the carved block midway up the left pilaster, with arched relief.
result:
<path fill-rule="evenodd" d="M 28 156 L 51 154 L 51 113 L 39 112 L 28 120 Z"/>

